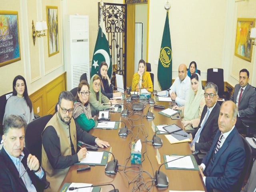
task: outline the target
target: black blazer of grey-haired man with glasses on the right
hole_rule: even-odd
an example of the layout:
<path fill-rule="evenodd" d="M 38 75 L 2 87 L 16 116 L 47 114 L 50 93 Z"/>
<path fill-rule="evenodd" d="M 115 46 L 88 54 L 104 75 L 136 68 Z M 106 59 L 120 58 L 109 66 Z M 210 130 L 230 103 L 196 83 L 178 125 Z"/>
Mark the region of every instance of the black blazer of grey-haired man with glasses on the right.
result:
<path fill-rule="evenodd" d="M 194 131 L 191 132 L 193 138 L 195 137 L 198 129 L 201 127 L 202 120 L 204 119 L 204 116 L 206 115 L 207 109 L 208 108 L 205 105 L 198 128 L 196 128 Z M 212 141 L 213 141 L 214 136 L 218 130 L 219 114 L 220 114 L 220 104 L 218 104 L 218 102 L 216 102 L 216 105 L 212 109 L 212 112 L 210 113 L 206 123 L 204 124 L 204 128 L 203 128 L 202 132 L 200 133 L 200 138 L 199 138 L 198 143 L 195 143 L 196 151 L 201 150 L 201 149 L 206 150 L 206 151 L 210 150 L 210 148 L 212 146 Z"/>

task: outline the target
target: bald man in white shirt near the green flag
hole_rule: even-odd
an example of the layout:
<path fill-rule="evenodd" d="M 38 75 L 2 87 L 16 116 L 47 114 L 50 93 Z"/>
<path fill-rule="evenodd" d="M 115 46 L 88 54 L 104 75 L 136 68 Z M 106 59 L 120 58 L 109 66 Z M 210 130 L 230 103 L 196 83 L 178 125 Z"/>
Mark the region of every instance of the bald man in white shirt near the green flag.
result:
<path fill-rule="evenodd" d="M 179 107 L 185 105 L 188 97 L 190 78 L 187 76 L 187 73 L 187 66 L 180 64 L 178 77 L 173 82 L 169 91 L 170 97 Z"/>

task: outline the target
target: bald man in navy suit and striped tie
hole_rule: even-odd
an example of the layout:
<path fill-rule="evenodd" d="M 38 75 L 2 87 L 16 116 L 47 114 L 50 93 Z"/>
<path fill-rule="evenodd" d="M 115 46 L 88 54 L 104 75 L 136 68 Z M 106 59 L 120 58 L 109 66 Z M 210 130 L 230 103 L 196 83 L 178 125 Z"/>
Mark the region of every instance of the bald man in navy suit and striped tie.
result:
<path fill-rule="evenodd" d="M 234 191 L 244 167 L 245 149 L 235 127 L 236 116 L 236 105 L 232 101 L 223 102 L 218 118 L 219 130 L 199 166 L 208 192 L 212 189 Z"/>

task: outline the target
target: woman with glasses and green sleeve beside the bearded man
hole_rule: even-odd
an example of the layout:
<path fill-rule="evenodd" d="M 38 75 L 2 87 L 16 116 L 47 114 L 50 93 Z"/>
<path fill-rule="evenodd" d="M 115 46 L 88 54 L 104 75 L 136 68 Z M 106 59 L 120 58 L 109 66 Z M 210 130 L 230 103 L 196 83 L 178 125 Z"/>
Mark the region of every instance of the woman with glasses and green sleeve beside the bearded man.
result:
<path fill-rule="evenodd" d="M 89 105 L 89 84 L 86 80 L 80 81 L 74 102 L 73 118 L 83 130 L 89 131 L 95 126 L 97 116 L 92 117 Z"/>

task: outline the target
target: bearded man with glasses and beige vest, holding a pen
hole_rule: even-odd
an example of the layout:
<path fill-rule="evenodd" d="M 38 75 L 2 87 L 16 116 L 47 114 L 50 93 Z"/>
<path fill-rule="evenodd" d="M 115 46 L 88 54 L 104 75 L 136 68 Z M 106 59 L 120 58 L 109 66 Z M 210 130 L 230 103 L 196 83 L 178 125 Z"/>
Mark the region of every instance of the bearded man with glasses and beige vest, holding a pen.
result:
<path fill-rule="evenodd" d="M 62 91 L 58 100 L 58 112 L 46 124 L 42 132 L 42 167 L 50 187 L 46 191 L 56 192 L 71 165 L 86 157 L 86 148 L 77 153 L 77 142 L 97 144 L 104 148 L 110 146 L 95 136 L 82 130 L 72 118 L 74 96 Z"/>

